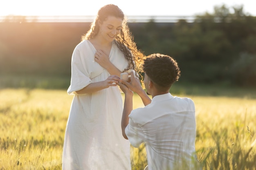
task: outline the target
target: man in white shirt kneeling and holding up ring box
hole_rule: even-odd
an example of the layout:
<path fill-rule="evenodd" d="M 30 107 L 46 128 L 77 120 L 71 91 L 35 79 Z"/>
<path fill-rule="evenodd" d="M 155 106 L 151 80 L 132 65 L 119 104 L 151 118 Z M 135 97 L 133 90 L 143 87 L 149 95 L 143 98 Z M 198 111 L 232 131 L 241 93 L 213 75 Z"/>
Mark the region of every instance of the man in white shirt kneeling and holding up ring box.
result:
<path fill-rule="evenodd" d="M 195 106 L 191 99 L 174 97 L 171 85 L 180 77 L 177 62 L 168 55 L 149 55 L 143 64 L 144 85 L 130 74 L 130 82 L 120 80 L 125 94 L 121 120 L 122 134 L 130 144 L 145 142 L 148 170 L 191 170 L 198 167 L 195 156 Z M 132 110 L 136 92 L 145 107 Z M 152 95 L 152 101 L 148 95 Z"/>

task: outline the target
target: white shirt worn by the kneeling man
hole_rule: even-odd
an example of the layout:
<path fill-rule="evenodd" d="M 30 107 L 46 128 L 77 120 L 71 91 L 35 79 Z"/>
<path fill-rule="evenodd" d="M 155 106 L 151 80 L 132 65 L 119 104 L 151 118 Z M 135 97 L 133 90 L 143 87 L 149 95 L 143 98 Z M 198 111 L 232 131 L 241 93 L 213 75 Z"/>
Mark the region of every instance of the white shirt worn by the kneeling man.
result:
<path fill-rule="evenodd" d="M 195 105 L 186 97 L 170 93 L 153 97 L 144 108 L 132 110 L 125 129 L 130 144 L 145 142 L 149 170 L 172 169 L 195 158 Z M 189 169 L 189 168 L 187 168 Z"/>

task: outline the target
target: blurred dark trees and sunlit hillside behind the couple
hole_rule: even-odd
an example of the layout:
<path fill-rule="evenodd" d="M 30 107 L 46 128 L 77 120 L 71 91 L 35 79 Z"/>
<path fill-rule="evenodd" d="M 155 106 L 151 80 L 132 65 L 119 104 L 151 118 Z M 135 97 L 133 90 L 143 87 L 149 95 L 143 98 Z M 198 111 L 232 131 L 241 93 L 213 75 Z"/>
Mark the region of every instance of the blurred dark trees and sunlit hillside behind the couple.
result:
<path fill-rule="evenodd" d="M 180 81 L 256 86 L 256 17 L 243 6 L 215 7 L 193 22 L 128 23 L 145 55 L 177 60 Z M 90 23 L 0 23 L 0 75 L 70 77 L 71 56 Z"/>

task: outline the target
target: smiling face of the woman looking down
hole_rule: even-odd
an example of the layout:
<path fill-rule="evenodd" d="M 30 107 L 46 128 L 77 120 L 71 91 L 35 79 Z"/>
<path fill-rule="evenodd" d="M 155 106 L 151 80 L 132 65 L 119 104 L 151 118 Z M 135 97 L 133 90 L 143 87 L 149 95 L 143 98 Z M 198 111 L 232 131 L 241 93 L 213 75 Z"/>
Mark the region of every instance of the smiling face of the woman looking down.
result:
<path fill-rule="evenodd" d="M 108 16 L 106 20 L 100 23 L 99 35 L 106 41 L 112 42 L 120 33 L 123 20 L 114 16 Z"/>

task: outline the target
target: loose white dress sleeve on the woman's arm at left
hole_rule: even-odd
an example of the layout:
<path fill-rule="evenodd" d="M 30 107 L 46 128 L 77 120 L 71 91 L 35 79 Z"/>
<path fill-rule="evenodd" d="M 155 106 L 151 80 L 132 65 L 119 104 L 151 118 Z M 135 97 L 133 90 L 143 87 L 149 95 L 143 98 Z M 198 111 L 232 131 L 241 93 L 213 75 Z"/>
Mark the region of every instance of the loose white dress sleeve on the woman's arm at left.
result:
<path fill-rule="evenodd" d="M 69 95 L 74 95 L 75 91 L 81 90 L 92 83 L 88 70 L 83 66 L 81 57 L 81 51 L 78 48 L 74 49 L 71 61 L 71 82 L 67 90 Z"/>

